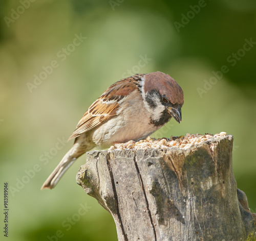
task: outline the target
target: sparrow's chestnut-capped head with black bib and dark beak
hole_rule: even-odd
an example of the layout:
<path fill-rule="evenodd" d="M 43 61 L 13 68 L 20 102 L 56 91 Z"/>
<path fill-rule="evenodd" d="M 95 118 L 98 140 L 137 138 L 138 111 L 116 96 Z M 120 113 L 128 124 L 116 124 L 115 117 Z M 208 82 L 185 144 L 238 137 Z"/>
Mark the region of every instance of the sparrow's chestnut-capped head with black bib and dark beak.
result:
<path fill-rule="evenodd" d="M 174 117 L 180 123 L 184 97 L 178 83 L 160 71 L 147 74 L 143 79 L 143 101 L 147 110 L 152 113 L 151 122 L 162 126 Z"/>

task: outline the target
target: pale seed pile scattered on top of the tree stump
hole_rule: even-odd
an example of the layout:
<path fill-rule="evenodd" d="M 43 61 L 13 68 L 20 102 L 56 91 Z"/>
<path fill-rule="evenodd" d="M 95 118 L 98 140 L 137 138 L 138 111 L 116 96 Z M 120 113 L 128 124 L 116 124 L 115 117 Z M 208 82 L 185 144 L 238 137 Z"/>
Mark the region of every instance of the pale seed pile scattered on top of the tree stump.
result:
<path fill-rule="evenodd" d="M 135 142 L 130 140 L 126 143 L 118 143 L 115 146 L 111 146 L 109 150 L 127 150 L 127 149 L 167 149 L 170 147 L 174 148 L 190 148 L 194 144 L 199 144 L 207 140 L 213 140 L 215 138 L 222 138 L 227 135 L 226 132 L 221 132 L 220 134 L 186 134 L 185 136 L 171 136 L 170 138 L 151 138 L 148 136 L 146 139 Z"/>

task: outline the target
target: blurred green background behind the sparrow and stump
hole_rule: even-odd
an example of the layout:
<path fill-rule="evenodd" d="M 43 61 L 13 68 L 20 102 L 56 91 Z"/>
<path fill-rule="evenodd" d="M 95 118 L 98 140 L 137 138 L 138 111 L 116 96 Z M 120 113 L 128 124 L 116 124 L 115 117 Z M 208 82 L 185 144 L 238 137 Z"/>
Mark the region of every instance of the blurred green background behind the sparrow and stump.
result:
<path fill-rule="evenodd" d="M 254 0 L 10 0 L 0 6 L 0 172 L 2 185 L 9 182 L 9 240 L 56 240 L 56 232 L 62 241 L 117 240 L 112 216 L 76 184 L 85 155 L 54 190 L 40 187 L 72 146 L 60 140 L 90 104 L 137 72 L 162 71 L 184 90 L 182 123 L 172 119 L 153 137 L 234 136 L 234 175 L 256 212 Z M 86 39 L 75 46 L 77 35 Z M 223 65 L 227 73 L 212 78 L 212 71 L 221 77 Z M 34 75 L 44 80 L 35 85 Z M 81 205 L 88 207 L 82 214 Z"/>

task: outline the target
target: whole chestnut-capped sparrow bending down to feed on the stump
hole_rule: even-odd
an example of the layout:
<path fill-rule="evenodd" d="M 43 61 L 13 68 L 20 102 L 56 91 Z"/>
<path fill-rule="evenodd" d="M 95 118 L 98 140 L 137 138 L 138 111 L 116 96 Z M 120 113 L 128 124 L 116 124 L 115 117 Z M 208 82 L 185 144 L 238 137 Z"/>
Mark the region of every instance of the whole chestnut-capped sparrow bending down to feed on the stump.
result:
<path fill-rule="evenodd" d="M 180 123 L 183 103 L 182 88 L 160 71 L 117 81 L 84 113 L 69 138 L 75 138 L 73 147 L 41 189 L 55 187 L 74 161 L 96 146 L 144 139 L 172 117 Z"/>

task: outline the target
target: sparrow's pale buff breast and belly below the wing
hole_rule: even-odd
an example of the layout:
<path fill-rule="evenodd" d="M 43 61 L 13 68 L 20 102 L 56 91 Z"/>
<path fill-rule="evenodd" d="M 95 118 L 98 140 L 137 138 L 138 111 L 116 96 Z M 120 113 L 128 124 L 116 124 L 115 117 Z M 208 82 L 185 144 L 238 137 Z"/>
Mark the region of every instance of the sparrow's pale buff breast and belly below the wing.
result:
<path fill-rule="evenodd" d="M 150 115 L 141 95 L 134 91 L 124 99 L 116 116 L 95 129 L 93 141 L 104 148 L 114 142 L 143 139 L 161 127 L 150 124 Z"/>

